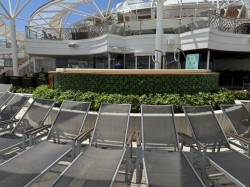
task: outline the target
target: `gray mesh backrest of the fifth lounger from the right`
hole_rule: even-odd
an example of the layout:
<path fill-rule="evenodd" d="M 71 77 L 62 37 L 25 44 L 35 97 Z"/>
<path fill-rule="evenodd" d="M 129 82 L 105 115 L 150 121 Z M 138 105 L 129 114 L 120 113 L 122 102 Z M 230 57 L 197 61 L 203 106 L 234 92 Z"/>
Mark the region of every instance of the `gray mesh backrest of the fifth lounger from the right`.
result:
<path fill-rule="evenodd" d="M 71 142 L 81 132 L 90 105 L 90 102 L 63 101 L 47 140 Z"/>

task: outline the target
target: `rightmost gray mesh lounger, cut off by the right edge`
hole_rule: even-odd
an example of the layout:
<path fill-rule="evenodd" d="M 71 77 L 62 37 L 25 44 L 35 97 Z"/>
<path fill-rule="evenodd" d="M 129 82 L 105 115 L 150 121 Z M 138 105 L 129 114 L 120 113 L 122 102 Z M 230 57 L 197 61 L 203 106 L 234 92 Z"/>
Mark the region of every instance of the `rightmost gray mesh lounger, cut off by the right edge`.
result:
<path fill-rule="evenodd" d="M 234 138 L 236 135 L 240 136 L 242 139 L 246 139 L 249 141 L 250 139 L 250 114 L 247 111 L 245 105 L 243 104 L 227 104 L 227 105 L 220 105 L 221 110 L 225 114 L 226 118 L 228 119 L 231 127 L 234 131 L 232 132 L 225 132 L 225 134 L 229 137 L 229 142 L 243 150 L 247 151 L 247 155 L 250 156 L 250 149 L 248 144 L 244 144 L 241 142 L 241 145 L 231 141 L 231 138 Z M 236 139 L 239 139 L 237 136 Z"/>

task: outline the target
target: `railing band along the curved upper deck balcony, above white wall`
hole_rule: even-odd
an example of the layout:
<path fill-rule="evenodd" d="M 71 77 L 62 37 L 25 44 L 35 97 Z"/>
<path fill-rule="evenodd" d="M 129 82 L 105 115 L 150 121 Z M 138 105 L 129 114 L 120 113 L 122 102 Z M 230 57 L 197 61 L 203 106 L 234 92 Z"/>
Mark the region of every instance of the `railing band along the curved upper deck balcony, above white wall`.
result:
<path fill-rule="evenodd" d="M 163 20 L 164 34 L 181 34 L 212 28 L 232 34 L 250 34 L 250 19 L 222 17 L 212 11 L 200 12 L 188 17 Z M 106 21 L 82 28 L 26 27 L 26 38 L 36 40 L 83 40 L 104 34 L 133 36 L 155 34 L 156 20 L 144 19 L 128 22 Z"/>

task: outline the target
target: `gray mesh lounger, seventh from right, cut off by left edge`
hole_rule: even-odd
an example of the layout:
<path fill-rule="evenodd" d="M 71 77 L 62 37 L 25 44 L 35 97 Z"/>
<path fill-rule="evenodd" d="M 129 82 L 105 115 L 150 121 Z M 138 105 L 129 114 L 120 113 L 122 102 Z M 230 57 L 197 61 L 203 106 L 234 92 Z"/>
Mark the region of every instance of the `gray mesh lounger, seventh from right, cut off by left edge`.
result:
<path fill-rule="evenodd" d="M 23 108 L 23 106 L 28 102 L 29 97 L 15 95 L 11 101 L 5 106 L 5 108 L 0 112 L 0 132 L 9 130 L 8 126 L 13 128 L 13 123 L 18 122 L 19 119 L 15 119 L 18 112 Z"/>

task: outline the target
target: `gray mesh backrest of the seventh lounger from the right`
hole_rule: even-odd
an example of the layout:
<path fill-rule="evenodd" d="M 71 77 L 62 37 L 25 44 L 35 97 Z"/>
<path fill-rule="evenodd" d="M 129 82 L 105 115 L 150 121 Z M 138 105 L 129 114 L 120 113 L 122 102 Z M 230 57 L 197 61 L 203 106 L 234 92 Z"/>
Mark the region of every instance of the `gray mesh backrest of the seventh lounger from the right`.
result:
<path fill-rule="evenodd" d="M 7 104 L 7 106 L 0 113 L 0 121 L 11 120 L 13 119 L 17 113 L 23 108 L 25 103 L 27 103 L 29 97 L 15 95 L 11 101 Z"/>

